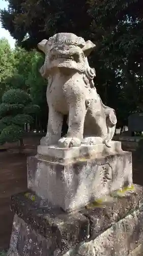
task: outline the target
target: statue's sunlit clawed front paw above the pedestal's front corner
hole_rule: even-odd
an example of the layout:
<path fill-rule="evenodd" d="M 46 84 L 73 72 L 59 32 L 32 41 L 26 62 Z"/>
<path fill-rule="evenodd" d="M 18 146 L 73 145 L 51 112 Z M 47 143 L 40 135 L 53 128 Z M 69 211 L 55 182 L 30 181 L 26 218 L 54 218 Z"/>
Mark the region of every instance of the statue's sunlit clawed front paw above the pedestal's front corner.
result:
<path fill-rule="evenodd" d="M 59 140 L 58 145 L 59 147 L 74 147 L 80 146 L 81 140 L 75 137 L 63 137 Z"/>

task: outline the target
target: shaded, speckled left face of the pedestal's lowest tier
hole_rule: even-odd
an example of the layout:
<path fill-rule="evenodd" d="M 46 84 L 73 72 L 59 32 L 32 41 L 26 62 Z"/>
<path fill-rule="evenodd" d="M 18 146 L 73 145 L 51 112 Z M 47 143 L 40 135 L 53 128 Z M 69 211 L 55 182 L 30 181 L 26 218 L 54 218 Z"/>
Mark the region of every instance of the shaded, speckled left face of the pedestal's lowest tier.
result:
<path fill-rule="evenodd" d="M 17 215 L 13 221 L 13 232 L 11 236 L 9 256 L 51 256 L 58 250 L 53 239 L 48 241 L 35 232 L 30 225 L 24 222 Z"/>

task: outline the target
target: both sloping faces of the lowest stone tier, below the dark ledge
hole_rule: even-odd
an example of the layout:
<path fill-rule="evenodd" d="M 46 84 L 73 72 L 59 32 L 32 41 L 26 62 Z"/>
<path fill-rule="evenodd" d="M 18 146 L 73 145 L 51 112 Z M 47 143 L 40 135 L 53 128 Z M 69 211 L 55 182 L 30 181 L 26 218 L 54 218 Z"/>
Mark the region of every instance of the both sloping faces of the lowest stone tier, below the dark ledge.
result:
<path fill-rule="evenodd" d="M 141 256 L 140 244 L 142 236 L 142 212 L 135 211 L 125 219 L 116 223 L 95 240 L 81 242 L 67 252 L 54 245 L 51 241 L 36 233 L 30 225 L 15 216 L 17 244 L 10 248 L 8 256 Z M 13 236 L 13 233 L 12 233 Z M 53 240 L 55 242 L 55 240 Z M 12 246 L 12 244 L 10 244 Z"/>

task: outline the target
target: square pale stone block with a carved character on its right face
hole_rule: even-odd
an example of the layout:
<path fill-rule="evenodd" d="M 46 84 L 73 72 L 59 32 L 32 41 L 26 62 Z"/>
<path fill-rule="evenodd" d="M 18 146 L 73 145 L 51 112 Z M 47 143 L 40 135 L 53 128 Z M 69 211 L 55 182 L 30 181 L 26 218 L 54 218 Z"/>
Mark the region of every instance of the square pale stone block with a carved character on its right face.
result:
<path fill-rule="evenodd" d="M 28 188 L 54 206 L 79 209 L 111 191 L 132 184 L 130 152 L 60 162 L 30 157 Z"/>

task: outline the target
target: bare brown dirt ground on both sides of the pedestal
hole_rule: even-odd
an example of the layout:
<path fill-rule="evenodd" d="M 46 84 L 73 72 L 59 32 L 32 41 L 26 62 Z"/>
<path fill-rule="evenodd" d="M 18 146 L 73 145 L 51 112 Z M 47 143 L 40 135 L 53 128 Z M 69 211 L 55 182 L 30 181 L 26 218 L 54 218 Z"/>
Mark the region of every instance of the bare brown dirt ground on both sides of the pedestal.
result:
<path fill-rule="evenodd" d="M 0 152 L 0 251 L 8 248 L 12 231 L 13 214 L 10 210 L 10 196 L 27 189 L 26 158 L 36 154 L 40 136 L 28 137 L 24 140 L 24 153 L 17 150 Z M 124 148 L 127 150 L 128 148 Z M 143 185 L 142 163 L 133 156 L 133 181 Z"/>

